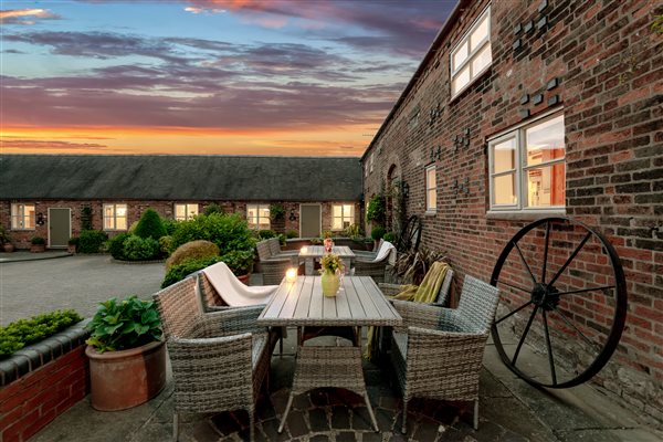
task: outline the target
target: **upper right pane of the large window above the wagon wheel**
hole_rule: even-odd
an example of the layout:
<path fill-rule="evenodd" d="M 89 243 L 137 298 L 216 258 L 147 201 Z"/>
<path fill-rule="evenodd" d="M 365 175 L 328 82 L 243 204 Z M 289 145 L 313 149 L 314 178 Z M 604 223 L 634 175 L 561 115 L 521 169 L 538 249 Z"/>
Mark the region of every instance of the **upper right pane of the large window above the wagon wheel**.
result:
<path fill-rule="evenodd" d="M 527 165 L 540 165 L 564 158 L 564 115 L 525 130 Z"/>

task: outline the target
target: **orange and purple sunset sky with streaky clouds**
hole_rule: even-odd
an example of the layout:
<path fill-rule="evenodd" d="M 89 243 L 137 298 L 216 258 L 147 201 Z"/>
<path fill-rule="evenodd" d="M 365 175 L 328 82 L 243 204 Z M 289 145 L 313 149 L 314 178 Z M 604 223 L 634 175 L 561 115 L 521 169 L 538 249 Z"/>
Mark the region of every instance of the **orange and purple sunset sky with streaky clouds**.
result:
<path fill-rule="evenodd" d="M 455 0 L 0 0 L 3 154 L 360 156 Z"/>

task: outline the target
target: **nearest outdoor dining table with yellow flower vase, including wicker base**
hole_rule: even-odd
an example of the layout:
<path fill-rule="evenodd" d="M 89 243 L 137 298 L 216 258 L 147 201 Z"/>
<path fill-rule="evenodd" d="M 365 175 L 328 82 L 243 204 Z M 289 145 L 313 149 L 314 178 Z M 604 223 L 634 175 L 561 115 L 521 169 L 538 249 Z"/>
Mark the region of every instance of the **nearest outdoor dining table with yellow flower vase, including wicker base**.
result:
<path fill-rule="evenodd" d="M 293 282 L 284 278 L 257 324 L 298 327 L 293 387 L 278 432 L 283 431 L 293 398 L 323 387 L 345 388 L 362 396 L 378 431 L 361 368 L 361 327 L 398 326 L 402 318 L 370 276 L 344 276 L 338 293 L 332 297 L 323 295 L 320 276 L 298 276 Z M 358 345 L 304 346 L 301 329 L 305 326 L 357 327 Z"/>

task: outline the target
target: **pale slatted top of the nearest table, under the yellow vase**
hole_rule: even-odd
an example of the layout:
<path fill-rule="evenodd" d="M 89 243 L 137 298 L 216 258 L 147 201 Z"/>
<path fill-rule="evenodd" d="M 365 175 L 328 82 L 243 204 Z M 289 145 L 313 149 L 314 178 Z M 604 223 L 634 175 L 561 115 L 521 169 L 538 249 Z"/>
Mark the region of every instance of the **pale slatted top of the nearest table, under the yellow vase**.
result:
<path fill-rule="evenodd" d="M 323 295 L 320 276 L 283 280 L 257 318 L 265 326 L 394 326 L 401 316 L 370 276 L 345 276 L 336 296 Z"/>

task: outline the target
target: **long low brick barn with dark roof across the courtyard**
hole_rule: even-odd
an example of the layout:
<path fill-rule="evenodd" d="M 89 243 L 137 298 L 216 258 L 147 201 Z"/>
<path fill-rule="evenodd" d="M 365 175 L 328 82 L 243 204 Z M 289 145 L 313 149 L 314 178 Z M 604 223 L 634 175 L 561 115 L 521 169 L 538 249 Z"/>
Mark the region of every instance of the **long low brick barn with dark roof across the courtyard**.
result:
<path fill-rule="evenodd" d="M 18 249 L 35 235 L 66 248 L 87 213 L 113 236 L 148 208 L 182 220 L 217 203 L 254 229 L 304 238 L 360 220 L 357 158 L 3 155 L 0 182 L 0 224 Z M 282 220 L 270 219 L 271 204 L 285 209 Z"/>

